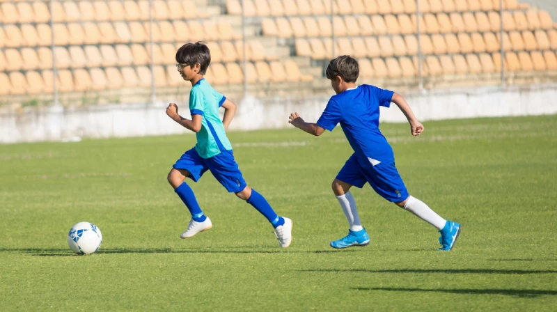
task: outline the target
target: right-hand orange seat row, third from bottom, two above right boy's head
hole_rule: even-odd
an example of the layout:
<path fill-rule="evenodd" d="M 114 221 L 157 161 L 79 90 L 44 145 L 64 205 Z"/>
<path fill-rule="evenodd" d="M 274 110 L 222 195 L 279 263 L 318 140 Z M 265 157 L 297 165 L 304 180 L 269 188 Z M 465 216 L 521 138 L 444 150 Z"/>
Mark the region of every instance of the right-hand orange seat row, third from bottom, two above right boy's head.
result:
<path fill-rule="evenodd" d="M 503 13 L 504 31 L 554 29 L 549 13 L 544 10 L 528 10 Z M 499 31 L 501 20 L 497 12 L 428 13 L 420 17 L 421 33 L 473 33 L 476 31 Z M 384 34 L 417 33 L 416 15 L 360 15 L 330 17 L 276 17 L 262 20 L 265 36 L 280 38 L 331 36 L 369 36 Z"/>

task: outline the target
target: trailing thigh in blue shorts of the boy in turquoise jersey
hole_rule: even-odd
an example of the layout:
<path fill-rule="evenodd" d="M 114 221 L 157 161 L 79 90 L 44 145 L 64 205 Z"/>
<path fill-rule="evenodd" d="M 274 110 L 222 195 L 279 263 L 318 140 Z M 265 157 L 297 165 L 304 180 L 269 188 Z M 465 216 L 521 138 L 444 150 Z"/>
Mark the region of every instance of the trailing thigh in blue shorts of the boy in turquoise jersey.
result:
<path fill-rule="evenodd" d="M 219 183 L 230 193 L 242 192 L 247 184 L 242 176 L 231 151 L 225 150 L 219 155 L 205 159 L 209 170 Z"/>

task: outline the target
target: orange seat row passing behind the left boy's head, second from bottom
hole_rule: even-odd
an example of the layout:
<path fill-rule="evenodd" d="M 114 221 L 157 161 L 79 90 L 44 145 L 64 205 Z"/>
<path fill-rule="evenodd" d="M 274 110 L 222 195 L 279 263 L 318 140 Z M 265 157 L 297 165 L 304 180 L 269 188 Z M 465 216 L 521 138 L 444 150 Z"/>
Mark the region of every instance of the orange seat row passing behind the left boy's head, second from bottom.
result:
<path fill-rule="evenodd" d="M 242 41 L 207 42 L 213 62 L 243 61 L 244 47 Z M 175 54 L 181 44 L 163 43 L 152 46 L 153 62 L 174 64 Z M 150 64 L 150 45 L 79 45 L 54 47 L 56 68 L 93 68 L 109 66 L 148 65 Z M 274 61 L 278 56 L 267 53 L 258 40 L 246 45 L 248 61 Z M 35 70 L 52 68 L 52 50 L 49 47 L 24 47 L 0 50 L 0 71 L 3 70 Z"/>

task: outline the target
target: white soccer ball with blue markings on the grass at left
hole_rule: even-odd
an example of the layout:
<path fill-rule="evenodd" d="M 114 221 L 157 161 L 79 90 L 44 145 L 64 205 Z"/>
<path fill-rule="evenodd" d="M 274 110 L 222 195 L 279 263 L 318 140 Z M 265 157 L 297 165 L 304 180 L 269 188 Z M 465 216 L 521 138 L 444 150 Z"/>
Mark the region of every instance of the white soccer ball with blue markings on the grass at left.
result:
<path fill-rule="evenodd" d="M 79 222 L 68 232 L 68 245 L 74 253 L 88 255 L 99 250 L 102 243 L 100 228 L 89 222 Z"/>

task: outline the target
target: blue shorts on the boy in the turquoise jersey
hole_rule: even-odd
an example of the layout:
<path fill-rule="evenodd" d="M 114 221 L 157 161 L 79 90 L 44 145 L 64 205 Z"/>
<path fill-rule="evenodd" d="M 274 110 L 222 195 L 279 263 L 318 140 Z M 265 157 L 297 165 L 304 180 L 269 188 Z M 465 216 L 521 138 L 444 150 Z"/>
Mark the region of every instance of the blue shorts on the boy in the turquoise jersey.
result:
<path fill-rule="evenodd" d="M 246 188 L 246 181 L 234 160 L 232 150 L 224 150 L 211 158 L 201 158 L 197 150 L 191 148 L 172 167 L 189 171 L 189 178 L 194 182 L 201 179 L 203 173 L 209 170 L 230 193 L 242 192 Z"/>

